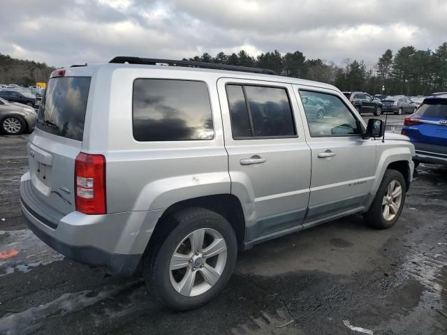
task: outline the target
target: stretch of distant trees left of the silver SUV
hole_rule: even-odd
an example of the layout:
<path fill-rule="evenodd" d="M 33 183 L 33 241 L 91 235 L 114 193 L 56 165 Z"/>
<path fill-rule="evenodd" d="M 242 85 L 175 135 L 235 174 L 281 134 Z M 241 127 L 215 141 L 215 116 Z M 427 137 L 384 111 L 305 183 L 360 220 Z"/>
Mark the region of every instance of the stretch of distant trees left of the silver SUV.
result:
<path fill-rule="evenodd" d="M 0 53 L 0 84 L 35 85 L 47 82 L 54 68 L 45 63 L 15 59 Z"/>

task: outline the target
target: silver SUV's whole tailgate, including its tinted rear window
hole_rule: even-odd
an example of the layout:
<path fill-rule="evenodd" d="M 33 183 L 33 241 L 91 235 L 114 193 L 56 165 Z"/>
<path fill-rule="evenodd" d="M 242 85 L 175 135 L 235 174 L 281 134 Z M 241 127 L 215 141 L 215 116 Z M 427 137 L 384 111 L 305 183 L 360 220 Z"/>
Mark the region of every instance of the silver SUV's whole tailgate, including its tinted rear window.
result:
<path fill-rule="evenodd" d="M 50 78 L 29 137 L 34 194 L 57 211 L 75 210 L 75 159 L 82 148 L 91 77 Z"/>

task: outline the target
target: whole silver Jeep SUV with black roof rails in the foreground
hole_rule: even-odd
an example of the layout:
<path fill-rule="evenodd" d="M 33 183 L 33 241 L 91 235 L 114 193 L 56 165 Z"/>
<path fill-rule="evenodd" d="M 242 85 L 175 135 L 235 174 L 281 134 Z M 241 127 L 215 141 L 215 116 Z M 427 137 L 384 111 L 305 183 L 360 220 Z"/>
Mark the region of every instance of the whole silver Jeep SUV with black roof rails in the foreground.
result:
<path fill-rule="evenodd" d="M 112 274 L 141 265 L 164 304 L 196 308 L 237 251 L 354 213 L 393 226 L 414 147 L 383 132 L 339 89 L 269 70 L 131 57 L 56 70 L 22 211 L 67 258 Z"/>

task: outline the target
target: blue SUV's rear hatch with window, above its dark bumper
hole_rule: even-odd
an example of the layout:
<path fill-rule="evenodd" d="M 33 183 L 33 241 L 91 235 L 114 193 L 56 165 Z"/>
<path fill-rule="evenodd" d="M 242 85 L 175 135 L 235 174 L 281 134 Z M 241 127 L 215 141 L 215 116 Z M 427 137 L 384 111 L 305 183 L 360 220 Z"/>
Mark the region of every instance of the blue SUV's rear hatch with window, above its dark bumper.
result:
<path fill-rule="evenodd" d="M 447 98 L 426 98 L 404 124 L 413 142 L 447 146 Z"/>

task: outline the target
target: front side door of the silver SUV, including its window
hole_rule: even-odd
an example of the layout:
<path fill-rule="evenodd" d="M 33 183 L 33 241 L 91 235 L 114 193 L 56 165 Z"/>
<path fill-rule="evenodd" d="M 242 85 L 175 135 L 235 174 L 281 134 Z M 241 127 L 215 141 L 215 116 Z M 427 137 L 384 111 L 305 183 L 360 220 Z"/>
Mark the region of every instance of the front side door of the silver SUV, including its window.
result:
<path fill-rule="evenodd" d="M 376 145 L 359 135 L 358 118 L 330 89 L 294 85 L 306 115 L 307 144 L 312 150 L 312 179 L 305 227 L 339 214 L 359 211 L 374 183 Z M 307 117 L 302 99 L 321 98 L 335 113 L 323 119 Z"/>

